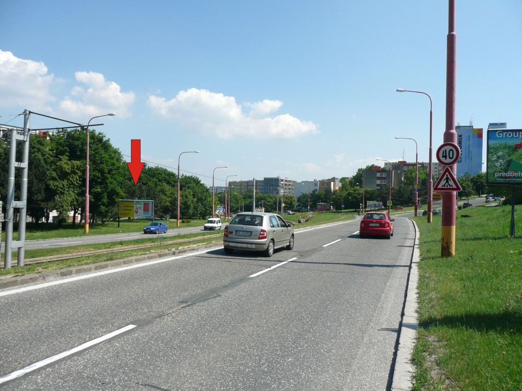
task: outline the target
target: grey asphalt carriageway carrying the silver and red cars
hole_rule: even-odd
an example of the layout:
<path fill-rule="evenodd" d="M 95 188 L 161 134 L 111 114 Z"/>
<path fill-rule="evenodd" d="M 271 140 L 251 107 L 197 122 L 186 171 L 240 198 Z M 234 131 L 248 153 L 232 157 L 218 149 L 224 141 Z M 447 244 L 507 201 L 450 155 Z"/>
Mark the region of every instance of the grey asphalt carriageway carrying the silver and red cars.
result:
<path fill-rule="evenodd" d="M 415 238 L 394 218 L 390 240 L 355 219 L 272 258 L 217 248 L 2 290 L 0 389 L 390 389 Z"/>

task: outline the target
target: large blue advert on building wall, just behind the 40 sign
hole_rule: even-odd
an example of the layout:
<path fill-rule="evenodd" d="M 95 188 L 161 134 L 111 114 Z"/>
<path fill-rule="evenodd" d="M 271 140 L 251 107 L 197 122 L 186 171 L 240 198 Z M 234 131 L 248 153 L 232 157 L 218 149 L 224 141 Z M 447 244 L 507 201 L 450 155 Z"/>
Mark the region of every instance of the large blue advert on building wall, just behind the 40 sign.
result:
<path fill-rule="evenodd" d="M 457 178 L 466 173 L 476 175 L 482 171 L 482 128 L 456 126 L 460 158 L 457 161 Z"/>

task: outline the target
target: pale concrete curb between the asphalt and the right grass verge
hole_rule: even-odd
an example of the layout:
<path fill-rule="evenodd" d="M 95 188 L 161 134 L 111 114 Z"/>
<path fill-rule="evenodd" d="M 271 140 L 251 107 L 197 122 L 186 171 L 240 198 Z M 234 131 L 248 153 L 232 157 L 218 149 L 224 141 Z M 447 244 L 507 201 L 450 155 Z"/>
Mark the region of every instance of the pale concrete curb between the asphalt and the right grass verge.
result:
<path fill-rule="evenodd" d="M 411 362 L 413 347 L 417 342 L 417 329 L 419 327 L 417 318 L 417 300 L 419 281 L 418 264 L 419 255 L 419 228 L 413 220 L 416 237 L 413 243 L 413 255 L 411 259 L 410 275 L 408 278 L 408 288 L 406 292 L 406 303 L 404 314 L 402 315 L 399 347 L 395 359 L 395 370 L 392 380 L 392 391 L 411 391 L 412 378 L 415 374 L 415 366 Z"/>

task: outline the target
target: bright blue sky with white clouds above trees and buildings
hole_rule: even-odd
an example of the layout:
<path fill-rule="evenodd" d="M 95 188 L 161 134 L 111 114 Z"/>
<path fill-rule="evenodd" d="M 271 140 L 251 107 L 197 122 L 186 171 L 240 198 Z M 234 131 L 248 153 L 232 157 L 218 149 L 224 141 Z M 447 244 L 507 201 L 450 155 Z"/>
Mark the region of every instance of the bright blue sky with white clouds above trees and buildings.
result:
<path fill-rule="evenodd" d="M 130 160 L 208 185 L 428 161 L 445 131 L 444 1 L 2 2 L 0 123 L 97 128 Z M 457 0 L 460 125 L 522 127 L 522 2 Z M 96 120 L 95 120 L 96 121 Z M 65 126 L 32 116 L 31 128 Z M 485 152 L 485 138 L 484 138 Z M 435 161 L 435 155 L 433 155 Z M 485 153 L 484 153 L 485 163 Z M 485 164 L 484 164 L 485 169 Z"/>

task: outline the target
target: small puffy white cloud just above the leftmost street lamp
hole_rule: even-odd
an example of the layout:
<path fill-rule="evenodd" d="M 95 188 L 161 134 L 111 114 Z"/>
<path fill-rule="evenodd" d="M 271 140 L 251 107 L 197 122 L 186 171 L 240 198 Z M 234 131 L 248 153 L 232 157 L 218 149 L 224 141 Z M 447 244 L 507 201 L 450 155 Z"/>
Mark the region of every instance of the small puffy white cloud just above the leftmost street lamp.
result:
<path fill-rule="evenodd" d="M 87 88 L 76 86 L 70 95 L 60 102 L 60 111 L 76 117 L 86 118 L 94 115 L 115 112 L 118 117 L 130 117 L 130 106 L 136 97 L 134 92 L 122 92 L 120 85 L 105 80 L 97 72 L 76 72 L 76 80 Z"/>

